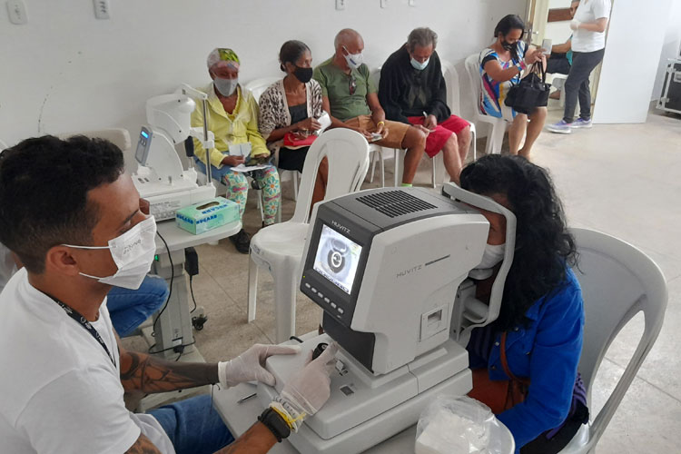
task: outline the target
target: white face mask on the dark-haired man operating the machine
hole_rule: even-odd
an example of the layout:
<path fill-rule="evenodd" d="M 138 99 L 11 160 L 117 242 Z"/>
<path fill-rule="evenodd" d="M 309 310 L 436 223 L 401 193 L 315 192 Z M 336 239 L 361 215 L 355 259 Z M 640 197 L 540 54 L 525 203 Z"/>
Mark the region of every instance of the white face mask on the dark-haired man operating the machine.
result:
<path fill-rule="evenodd" d="M 64 244 L 64 246 L 78 249 L 108 249 L 118 267 L 114 275 L 100 278 L 84 272 L 80 274 L 105 284 L 136 290 L 140 288 L 146 273 L 152 268 L 153 256 L 156 252 L 155 235 L 156 221 L 153 216 L 149 216 L 128 232 L 109 240 L 108 246 L 74 246 L 72 244 Z"/>

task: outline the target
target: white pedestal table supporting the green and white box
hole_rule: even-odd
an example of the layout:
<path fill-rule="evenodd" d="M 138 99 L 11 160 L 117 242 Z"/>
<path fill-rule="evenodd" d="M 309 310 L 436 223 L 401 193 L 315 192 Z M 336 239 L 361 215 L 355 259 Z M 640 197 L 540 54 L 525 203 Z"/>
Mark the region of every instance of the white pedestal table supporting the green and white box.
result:
<path fill-rule="evenodd" d="M 154 331 L 153 351 L 163 351 L 163 356 L 175 358 L 183 350 L 185 353 L 197 352 L 192 345 L 192 317 L 189 311 L 190 296 L 187 291 L 187 283 L 184 278 L 184 248 L 197 246 L 206 242 L 217 242 L 232 236 L 242 229 L 241 222 L 231 222 L 212 229 L 209 232 L 194 235 L 186 232 L 175 225 L 174 220 L 158 222 L 156 224 L 159 235 L 156 235 L 156 260 L 152 265 L 152 273 L 163 277 L 171 285 L 171 298 L 167 307 L 158 317 L 156 325 L 151 328 Z M 171 266 L 171 262 L 173 265 Z M 172 278 L 172 279 L 171 279 Z M 153 320 L 156 319 L 154 314 Z M 146 334 L 146 333 L 145 333 Z M 181 347 L 181 346 L 185 347 Z M 174 349 L 174 350 L 173 350 Z M 201 355 L 193 355 L 192 360 L 202 360 Z"/>

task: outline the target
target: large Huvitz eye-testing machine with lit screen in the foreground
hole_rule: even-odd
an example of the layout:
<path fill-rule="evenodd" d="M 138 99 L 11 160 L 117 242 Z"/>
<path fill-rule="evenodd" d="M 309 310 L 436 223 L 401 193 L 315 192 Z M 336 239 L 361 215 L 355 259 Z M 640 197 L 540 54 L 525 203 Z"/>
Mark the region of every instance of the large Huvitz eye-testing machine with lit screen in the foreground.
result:
<path fill-rule="evenodd" d="M 475 206 L 506 216 L 506 252 L 489 304 L 475 298 L 469 271 L 480 263 L 489 222 Z M 273 356 L 276 389 L 309 350 L 337 341 L 331 398 L 306 419 L 291 444 L 303 454 L 351 454 L 409 428 L 439 395 L 472 388 L 465 346 L 470 331 L 498 316 L 513 260 L 513 213 L 447 184 L 355 192 L 315 206 L 302 262 L 301 291 L 323 309 L 324 334 L 302 354 Z M 491 275 L 491 271 L 489 271 Z"/>

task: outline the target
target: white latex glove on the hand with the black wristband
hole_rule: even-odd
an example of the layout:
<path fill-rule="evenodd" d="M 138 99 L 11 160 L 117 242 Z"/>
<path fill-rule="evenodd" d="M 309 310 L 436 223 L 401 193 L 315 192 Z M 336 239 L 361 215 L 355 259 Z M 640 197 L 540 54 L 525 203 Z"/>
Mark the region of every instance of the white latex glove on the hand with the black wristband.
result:
<path fill-rule="evenodd" d="M 312 352 L 310 352 L 307 365 L 281 390 L 277 401 L 293 419 L 301 420 L 315 414 L 329 400 L 331 396 L 329 374 L 336 364 L 334 359 L 336 351 L 338 351 L 338 345 L 333 342 L 316 360 L 311 360 Z"/>

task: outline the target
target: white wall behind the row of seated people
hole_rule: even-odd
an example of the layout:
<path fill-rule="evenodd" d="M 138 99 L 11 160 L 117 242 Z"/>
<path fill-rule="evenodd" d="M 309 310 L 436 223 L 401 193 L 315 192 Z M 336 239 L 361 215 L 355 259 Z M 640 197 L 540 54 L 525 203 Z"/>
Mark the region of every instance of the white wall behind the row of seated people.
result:
<path fill-rule="evenodd" d="M 310 45 L 319 64 L 350 26 L 364 36 L 368 63 L 379 65 L 412 28 L 428 25 L 441 58 L 460 68 L 491 42 L 503 15 L 525 11 L 524 0 L 389 0 L 386 9 L 346 0 L 344 11 L 334 0 L 111 0 L 111 19 L 102 21 L 88 0 L 24 1 L 27 25 L 11 25 L 0 7 L 0 138 L 8 144 L 103 127 L 126 128 L 134 141 L 145 100 L 182 82 L 208 83 L 205 57 L 216 46 L 239 54 L 248 81 L 281 74 L 287 39 Z M 465 109 L 470 117 L 472 106 Z"/>

